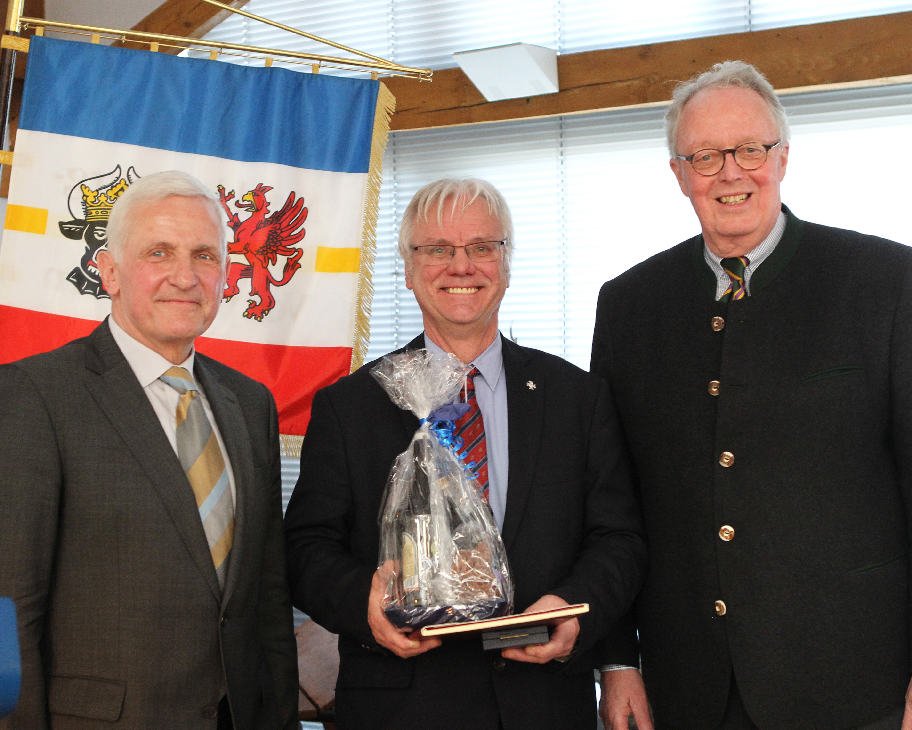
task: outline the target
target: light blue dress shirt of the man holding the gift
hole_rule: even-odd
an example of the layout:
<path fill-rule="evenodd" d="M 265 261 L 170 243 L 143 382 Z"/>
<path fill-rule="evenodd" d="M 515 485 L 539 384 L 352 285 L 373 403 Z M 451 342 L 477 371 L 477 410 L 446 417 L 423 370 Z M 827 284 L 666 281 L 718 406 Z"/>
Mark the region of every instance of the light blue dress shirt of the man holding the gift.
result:
<path fill-rule="evenodd" d="M 431 352 L 446 350 L 425 334 L 424 346 Z M 507 508 L 507 479 L 510 474 L 510 424 L 507 420 L 507 379 L 503 375 L 503 340 L 500 332 L 475 360 L 475 398 L 484 421 L 484 440 L 488 449 L 488 504 L 497 528 L 503 532 Z"/>

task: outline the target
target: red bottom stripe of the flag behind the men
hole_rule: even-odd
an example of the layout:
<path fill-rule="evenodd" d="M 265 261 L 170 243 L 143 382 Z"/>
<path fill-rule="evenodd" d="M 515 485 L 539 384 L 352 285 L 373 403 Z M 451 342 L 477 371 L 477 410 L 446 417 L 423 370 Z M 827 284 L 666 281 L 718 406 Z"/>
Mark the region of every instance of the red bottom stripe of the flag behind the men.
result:
<path fill-rule="evenodd" d="M 0 305 L 0 363 L 47 352 L 86 337 L 98 322 Z M 314 393 L 347 375 L 351 348 L 258 345 L 201 337 L 205 355 L 260 381 L 273 392 L 282 433 L 304 435 Z"/>

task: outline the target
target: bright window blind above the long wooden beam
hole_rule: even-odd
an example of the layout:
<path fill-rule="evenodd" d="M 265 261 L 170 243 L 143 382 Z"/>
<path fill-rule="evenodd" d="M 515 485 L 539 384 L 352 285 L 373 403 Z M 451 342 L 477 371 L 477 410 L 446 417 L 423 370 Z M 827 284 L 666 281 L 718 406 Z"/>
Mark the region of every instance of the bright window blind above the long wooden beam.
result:
<path fill-rule="evenodd" d="M 895 13 L 912 9 L 912 3 L 653 0 L 639 5 L 604 0 L 250 0 L 244 8 L 407 66 L 449 68 L 456 65 L 452 54 L 457 51 L 518 41 L 552 47 L 559 53 L 576 53 Z M 336 53 L 301 36 L 237 15 L 205 37 L 252 46 Z M 244 63 L 243 59 L 224 59 Z M 280 61 L 275 63 L 282 65 Z"/>

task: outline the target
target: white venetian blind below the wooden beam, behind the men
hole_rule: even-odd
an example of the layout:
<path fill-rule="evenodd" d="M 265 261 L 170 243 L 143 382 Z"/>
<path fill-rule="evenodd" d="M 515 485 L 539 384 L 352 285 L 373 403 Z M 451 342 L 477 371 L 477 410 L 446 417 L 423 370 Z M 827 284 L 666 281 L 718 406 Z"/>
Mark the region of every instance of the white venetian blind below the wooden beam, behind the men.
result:
<path fill-rule="evenodd" d="M 912 85 L 783 101 L 793 126 L 783 201 L 805 220 L 912 245 L 905 206 L 896 203 L 912 193 L 912 183 L 886 153 L 904 149 L 912 134 Z M 410 196 L 443 176 L 477 175 L 503 191 L 515 219 L 504 334 L 588 369 L 599 287 L 700 231 L 668 169 L 661 116 L 662 110 L 628 110 L 394 133 L 384 167 L 368 358 L 421 330 L 394 253 Z"/>

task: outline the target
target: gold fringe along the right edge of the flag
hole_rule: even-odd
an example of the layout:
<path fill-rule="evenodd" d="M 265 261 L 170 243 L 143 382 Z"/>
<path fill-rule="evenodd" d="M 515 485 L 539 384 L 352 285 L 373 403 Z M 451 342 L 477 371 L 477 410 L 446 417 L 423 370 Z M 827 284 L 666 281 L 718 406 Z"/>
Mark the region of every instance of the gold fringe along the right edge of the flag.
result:
<path fill-rule="evenodd" d="M 355 302 L 355 338 L 352 344 L 351 369 L 358 370 L 368 354 L 370 340 L 370 304 L 374 298 L 374 261 L 377 260 L 377 219 L 380 215 L 380 185 L 383 183 L 383 154 L 387 151 L 389 120 L 396 110 L 396 97 L 380 82 L 374 133 L 370 141 L 368 194 L 364 205 L 364 229 L 361 233 L 361 262 L 358 266 L 358 295 Z M 298 458 L 304 436 L 281 434 L 282 455 Z"/>

